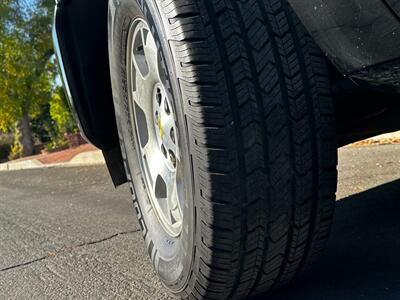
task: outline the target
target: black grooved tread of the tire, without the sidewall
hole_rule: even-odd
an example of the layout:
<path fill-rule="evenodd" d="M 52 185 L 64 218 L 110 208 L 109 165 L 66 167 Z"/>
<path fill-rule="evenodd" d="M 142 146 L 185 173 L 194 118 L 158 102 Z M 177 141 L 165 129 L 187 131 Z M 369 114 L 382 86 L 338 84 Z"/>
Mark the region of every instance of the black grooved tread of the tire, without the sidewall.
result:
<path fill-rule="evenodd" d="M 336 192 L 325 58 L 286 0 L 163 0 L 192 134 L 200 230 L 186 299 L 290 283 L 322 252 Z"/>

